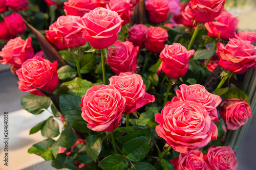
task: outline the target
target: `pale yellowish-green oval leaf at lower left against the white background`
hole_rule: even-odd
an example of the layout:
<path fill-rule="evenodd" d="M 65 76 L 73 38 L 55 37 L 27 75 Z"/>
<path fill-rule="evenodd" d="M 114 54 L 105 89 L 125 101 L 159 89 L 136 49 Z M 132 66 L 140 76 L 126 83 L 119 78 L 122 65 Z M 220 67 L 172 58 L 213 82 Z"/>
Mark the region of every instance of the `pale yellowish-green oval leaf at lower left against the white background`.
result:
<path fill-rule="evenodd" d="M 53 138 L 59 135 L 59 124 L 49 117 L 41 127 L 41 134 L 46 138 Z"/>

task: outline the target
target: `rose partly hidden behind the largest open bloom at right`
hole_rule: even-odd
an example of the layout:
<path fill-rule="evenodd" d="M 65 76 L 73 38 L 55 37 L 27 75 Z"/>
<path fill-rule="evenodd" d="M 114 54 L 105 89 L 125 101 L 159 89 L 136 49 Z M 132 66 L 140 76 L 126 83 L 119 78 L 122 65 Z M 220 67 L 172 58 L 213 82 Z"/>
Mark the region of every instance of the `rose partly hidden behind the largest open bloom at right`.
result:
<path fill-rule="evenodd" d="M 211 120 L 219 122 L 217 106 L 221 103 L 221 97 L 216 94 L 209 93 L 204 86 L 200 84 L 180 85 L 180 90 L 176 90 L 177 97 L 172 99 L 176 101 L 194 101 L 201 103 L 208 112 Z"/>

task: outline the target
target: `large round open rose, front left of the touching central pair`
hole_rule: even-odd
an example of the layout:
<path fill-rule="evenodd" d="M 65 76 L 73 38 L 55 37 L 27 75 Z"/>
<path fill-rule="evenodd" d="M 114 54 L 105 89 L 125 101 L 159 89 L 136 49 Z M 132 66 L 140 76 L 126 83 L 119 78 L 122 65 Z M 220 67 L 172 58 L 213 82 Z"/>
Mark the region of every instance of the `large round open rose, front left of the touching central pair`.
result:
<path fill-rule="evenodd" d="M 94 85 L 82 96 L 82 118 L 93 131 L 116 129 L 125 108 L 125 98 L 112 86 Z"/>

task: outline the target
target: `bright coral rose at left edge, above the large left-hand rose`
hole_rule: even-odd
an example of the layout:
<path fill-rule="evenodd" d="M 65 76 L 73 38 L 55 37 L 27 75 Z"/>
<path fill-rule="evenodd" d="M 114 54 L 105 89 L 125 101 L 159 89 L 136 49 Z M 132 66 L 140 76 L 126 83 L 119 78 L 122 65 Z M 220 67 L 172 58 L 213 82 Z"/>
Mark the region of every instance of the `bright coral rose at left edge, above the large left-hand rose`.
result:
<path fill-rule="evenodd" d="M 15 68 L 21 68 L 22 63 L 34 57 L 31 37 L 27 38 L 26 41 L 20 37 L 11 39 L 2 48 L 0 56 L 3 57 L 3 59 L 0 60 L 1 64 L 10 64 Z"/>

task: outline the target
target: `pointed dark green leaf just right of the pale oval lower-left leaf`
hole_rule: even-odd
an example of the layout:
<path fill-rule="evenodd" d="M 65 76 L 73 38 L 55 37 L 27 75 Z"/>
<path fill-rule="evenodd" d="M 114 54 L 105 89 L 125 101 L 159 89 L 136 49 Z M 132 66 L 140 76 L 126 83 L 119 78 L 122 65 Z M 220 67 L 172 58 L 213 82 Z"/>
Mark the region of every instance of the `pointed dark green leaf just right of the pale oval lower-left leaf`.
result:
<path fill-rule="evenodd" d="M 78 138 L 76 137 L 73 129 L 69 125 L 66 125 L 65 129 L 59 136 L 57 143 L 60 147 L 68 148 L 72 147 L 77 140 Z"/>

